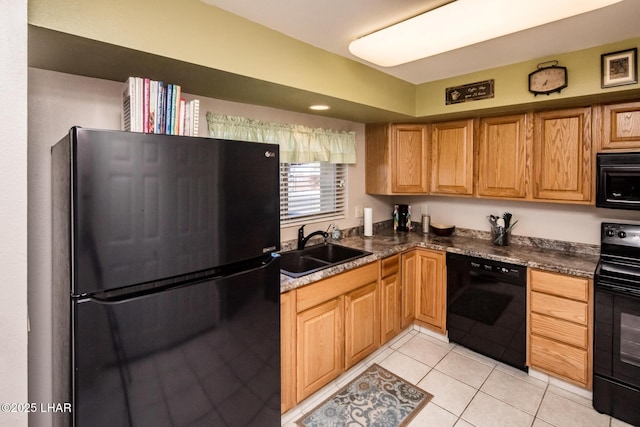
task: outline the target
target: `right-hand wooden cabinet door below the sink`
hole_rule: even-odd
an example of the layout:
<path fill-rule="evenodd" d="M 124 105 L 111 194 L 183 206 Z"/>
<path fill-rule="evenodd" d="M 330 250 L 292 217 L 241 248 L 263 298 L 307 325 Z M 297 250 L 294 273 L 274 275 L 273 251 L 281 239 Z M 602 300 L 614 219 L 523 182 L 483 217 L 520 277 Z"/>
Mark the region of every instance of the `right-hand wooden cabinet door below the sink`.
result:
<path fill-rule="evenodd" d="M 349 369 L 380 343 L 378 283 L 373 282 L 345 295 L 345 369 Z"/>

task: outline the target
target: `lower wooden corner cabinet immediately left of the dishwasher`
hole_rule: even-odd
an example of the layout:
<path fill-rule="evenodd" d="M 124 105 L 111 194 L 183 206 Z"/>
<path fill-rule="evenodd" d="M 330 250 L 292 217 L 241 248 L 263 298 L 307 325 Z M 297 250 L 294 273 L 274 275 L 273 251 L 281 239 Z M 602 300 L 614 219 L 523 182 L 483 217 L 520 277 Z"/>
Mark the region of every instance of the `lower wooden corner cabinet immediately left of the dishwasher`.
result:
<path fill-rule="evenodd" d="M 416 249 L 402 255 L 402 289 L 412 298 L 403 307 L 413 305 L 415 320 L 442 334 L 446 331 L 445 253 Z M 407 317 L 408 319 L 409 317 Z M 403 315 L 403 320 L 405 316 Z"/>

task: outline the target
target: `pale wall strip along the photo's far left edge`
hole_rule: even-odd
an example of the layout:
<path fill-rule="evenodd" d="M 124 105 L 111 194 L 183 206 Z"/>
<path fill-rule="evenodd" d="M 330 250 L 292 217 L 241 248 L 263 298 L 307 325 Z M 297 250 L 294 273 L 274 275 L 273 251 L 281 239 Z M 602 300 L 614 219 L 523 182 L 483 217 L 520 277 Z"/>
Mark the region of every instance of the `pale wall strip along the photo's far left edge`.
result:
<path fill-rule="evenodd" d="M 0 0 L 0 403 L 27 395 L 27 1 Z M 0 412 L 0 426 L 26 426 Z"/>

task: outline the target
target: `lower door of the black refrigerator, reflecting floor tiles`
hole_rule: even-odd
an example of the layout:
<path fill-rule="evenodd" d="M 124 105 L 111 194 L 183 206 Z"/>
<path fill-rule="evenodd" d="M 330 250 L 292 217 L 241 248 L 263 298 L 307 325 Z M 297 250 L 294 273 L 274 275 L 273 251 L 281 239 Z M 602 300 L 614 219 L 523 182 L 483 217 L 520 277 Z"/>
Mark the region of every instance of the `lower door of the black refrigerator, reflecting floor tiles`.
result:
<path fill-rule="evenodd" d="M 276 261 L 74 304 L 76 426 L 279 426 Z"/>

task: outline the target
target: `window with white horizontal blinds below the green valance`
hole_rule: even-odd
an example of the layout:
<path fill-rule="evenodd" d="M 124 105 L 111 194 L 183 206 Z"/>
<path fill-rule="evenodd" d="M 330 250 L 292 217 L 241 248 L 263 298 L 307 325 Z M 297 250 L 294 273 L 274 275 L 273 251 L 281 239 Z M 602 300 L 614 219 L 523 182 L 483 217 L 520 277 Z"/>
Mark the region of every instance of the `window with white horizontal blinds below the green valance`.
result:
<path fill-rule="evenodd" d="M 344 218 L 347 165 L 280 164 L 280 223 Z"/>

